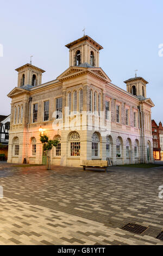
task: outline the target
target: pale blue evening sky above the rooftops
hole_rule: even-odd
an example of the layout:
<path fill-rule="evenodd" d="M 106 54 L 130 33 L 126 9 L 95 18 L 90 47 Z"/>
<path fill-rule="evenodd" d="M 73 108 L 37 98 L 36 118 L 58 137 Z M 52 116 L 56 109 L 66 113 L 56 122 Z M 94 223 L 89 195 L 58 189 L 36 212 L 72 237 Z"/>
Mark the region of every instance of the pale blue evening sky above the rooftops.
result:
<path fill-rule="evenodd" d="M 15 69 L 33 55 L 32 64 L 46 70 L 42 83 L 54 80 L 69 65 L 65 45 L 82 37 L 85 27 L 104 47 L 100 66 L 112 83 L 126 90 L 123 81 L 137 69 L 149 82 L 152 119 L 163 122 L 162 20 L 162 0 L 0 0 L 0 115 L 10 113 L 7 94 L 17 86 Z"/>

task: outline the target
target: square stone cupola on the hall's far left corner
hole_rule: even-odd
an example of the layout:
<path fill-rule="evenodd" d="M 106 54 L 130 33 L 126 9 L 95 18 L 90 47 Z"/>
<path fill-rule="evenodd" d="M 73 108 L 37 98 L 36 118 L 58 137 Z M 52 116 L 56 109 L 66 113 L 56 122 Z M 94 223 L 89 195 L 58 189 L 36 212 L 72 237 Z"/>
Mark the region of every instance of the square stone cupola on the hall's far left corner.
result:
<path fill-rule="evenodd" d="M 29 63 L 15 70 L 18 72 L 17 87 L 40 86 L 42 82 L 42 73 L 45 72 L 45 70 L 37 68 Z"/>

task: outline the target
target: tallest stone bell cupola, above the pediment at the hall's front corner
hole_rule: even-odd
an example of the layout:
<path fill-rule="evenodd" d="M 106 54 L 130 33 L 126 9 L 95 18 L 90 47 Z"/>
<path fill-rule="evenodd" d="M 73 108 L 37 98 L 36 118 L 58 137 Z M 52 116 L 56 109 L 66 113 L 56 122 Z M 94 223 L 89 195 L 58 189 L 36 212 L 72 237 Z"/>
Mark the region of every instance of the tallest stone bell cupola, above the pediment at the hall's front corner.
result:
<path fill-rule="evenodd" d="M 65 46 L 70 49 L 70 66 L 99 67 L 99 51 L 103 47 L 90 36 L 84 35 L 82 38 Z"/>

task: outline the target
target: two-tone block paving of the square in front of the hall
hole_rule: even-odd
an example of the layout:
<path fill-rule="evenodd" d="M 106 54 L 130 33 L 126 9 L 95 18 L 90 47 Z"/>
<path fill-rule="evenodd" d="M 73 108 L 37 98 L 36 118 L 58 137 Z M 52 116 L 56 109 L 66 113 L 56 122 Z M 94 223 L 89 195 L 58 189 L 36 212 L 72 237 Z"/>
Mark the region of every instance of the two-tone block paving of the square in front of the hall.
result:
<path fill-rule="evenodd" d="M 1 245 L 163 245 L 163 168 L 17 167 L 0 162 Z M 134 234 L 121 228 L 140 224 Z"/>

